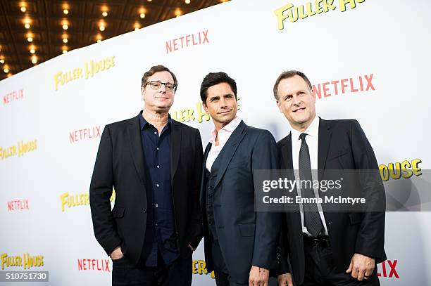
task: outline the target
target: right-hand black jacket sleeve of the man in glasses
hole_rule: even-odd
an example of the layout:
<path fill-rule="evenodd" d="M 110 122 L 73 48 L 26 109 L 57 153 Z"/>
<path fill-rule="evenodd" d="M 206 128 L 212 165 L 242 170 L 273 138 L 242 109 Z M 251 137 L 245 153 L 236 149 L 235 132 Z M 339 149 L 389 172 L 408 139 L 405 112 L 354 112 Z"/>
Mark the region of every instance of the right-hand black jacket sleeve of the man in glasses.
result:
<path fill-rule="evenodd" d="M 204 161 L 204 152 L 202 150 L 202 140 L 201 140 L 201 134 L 199 133 L 199 130 L 196 129 L 195 134 L 195 153 L 194 153 L 194 166 L 192 171 L 192 221 L 190 223 L 190 245 L 194 249 L 196 249 L 199 245 L 199 242 L 202 239 L 203 236 L 203 230 L 202 230 L 202 213 L 201 213 L 201 206 L 199 202 L 199 192 L 200 192 L 200 185 L 201 185 L 201 171 L 202 171 L 202 164 Z"/>

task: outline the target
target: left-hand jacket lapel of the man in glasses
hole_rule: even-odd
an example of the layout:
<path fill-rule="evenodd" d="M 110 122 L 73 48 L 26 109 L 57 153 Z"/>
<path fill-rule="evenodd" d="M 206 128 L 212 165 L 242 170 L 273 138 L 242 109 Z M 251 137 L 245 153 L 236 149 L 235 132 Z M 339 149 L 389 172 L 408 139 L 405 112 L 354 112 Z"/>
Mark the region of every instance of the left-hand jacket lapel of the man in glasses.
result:
<path fill-rule="evenodd" d="M 140 114 L 138 116 L 141 116 Z M 135 168 L 141 179 L 142 184 L 145 186 L 145 169 L 144 169 L 144 151 L 142 150 L 142 138 L 141 130 L 139 126 L 139 117 L 130 119 L 129 122 L 129 141 L 130 141 L 130 152 L 132 154 Z"/>

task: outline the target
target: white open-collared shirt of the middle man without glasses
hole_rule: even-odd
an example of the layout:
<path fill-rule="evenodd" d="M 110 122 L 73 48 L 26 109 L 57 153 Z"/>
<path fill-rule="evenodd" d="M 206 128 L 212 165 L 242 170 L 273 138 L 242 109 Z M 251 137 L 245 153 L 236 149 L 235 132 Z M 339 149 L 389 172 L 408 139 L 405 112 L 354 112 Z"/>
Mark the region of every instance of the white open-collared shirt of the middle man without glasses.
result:
<path fill-rule="evenodd" d="M 211 172 L 211 167 L 213 167 L 215 159 L 217 159 L 218 154 L 220 154 L 223 146 L 226 144 L 227 139 L 232 135 L 233 131 L 237 129 L 239 123 L 241 123 L 241 118 L 235 117 L 231 122 L 229 122 L 226 126 L 220 129 L 218 132 L 216 129 L 211 131 L 210 143 L 212 144 L 211 150 L 208 153 L 208 157 L 206 158 L 206 169 Z M 215 145 L 215 138 L 218 136 L 218 146 Z"/>

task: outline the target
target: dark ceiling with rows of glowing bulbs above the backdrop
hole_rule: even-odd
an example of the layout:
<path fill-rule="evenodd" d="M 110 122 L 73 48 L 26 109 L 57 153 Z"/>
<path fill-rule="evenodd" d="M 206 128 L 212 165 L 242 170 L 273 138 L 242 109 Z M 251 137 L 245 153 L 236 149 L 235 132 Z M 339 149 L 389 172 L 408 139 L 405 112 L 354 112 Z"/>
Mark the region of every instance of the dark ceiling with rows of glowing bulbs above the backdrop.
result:
<path fill-rule="evenodd" d="M 88 46 L 98 39 L 225 1 L 0 0 L 0 80 L 65 53 L 63 50 Z"/>

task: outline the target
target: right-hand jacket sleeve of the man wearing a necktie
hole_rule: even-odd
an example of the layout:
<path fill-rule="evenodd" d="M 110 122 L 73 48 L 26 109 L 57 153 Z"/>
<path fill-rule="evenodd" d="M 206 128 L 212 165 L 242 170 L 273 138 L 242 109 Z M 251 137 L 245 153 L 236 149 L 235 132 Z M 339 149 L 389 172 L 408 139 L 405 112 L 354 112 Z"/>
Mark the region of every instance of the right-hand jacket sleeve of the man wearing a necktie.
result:
<path fill-rule="evenodd" d="M 361 189 L 366 198 L 366 209 L 356 240 L 355 252 L 376 259 L 386 259 L 385 207 L 386 195 L 373 148 L 356 120 L 351 124 L 351 149 L 355 167 L 359 170 Z"/>

